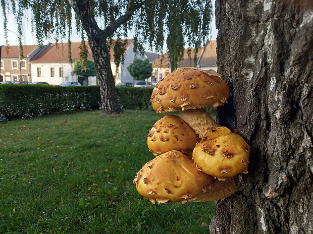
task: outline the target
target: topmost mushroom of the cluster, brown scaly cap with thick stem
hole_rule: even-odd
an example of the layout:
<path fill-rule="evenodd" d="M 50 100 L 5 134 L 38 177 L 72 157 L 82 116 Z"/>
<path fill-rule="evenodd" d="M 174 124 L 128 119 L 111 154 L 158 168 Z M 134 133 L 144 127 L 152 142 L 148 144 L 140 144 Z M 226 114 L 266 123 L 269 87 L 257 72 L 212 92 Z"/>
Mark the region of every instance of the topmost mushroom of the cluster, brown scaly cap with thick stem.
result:
<path fill-rule="evenodd" d="M 179 110 L 184 121 L 203 139 L 219 126 L 203 107 L 224 105 L 229 95 L 228 85 L 220 74 L 184 68 L 159 81 L 150 101 L 159 113 Z"/>

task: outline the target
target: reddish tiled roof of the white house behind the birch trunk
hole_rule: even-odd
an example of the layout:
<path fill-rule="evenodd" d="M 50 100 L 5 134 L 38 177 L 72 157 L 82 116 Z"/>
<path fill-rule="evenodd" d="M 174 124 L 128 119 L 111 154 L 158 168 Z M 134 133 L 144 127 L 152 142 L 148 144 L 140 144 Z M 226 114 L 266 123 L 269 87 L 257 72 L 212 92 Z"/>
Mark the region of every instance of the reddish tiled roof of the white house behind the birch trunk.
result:
<path fill-rule="evenodd" d="M 126 50 L 130 47 L 132 43 L 132 39 L 127 40 L 126 44 Z M 81 42 L 71 42 L 71 56 L 72 61 L 76 61 L 80 59 L 80 46 Z M 86 46 L 88 50 L 88 59 L 93 60 L 91 48 L 89 46 L 88 41 L 86 41 Z M 38 53 L 37 56 L 34 57 L 34 59 L 31 60 L 33 63 L 58 63 L 58 62 L 69 62 L 68 59 L 68 43 L 49 43 L 43 48 L 43 50 Z M 114 61 L 114 50 L 113 46 L 110 48 L 110 55 L 111 55 L 111 61 Z"/>

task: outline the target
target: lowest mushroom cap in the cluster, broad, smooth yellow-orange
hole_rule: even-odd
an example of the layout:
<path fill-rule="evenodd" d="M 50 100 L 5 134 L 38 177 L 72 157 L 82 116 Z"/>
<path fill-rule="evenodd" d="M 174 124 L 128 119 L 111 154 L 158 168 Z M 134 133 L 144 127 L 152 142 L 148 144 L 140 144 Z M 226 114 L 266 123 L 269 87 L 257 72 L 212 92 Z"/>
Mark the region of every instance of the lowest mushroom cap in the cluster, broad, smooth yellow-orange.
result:
<path fill-rule="evenodd" d="M 152 203 L 187 202 L 215 179 L 199 171 L 193 160 L 172 150 L 156 156 L 137 173 L 134 185 L 138 193 Z"/>

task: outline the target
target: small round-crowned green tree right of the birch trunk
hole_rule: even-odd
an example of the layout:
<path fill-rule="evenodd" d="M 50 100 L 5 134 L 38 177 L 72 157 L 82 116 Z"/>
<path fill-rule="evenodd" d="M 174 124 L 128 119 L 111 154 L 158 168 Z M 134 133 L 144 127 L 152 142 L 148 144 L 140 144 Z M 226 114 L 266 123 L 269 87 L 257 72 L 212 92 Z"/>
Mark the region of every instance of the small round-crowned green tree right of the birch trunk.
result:
<path fill-rule="evenodd" d="M 145 80 L 151 76 L 153 71 L 149 59 L 140 60 L 137 58 L 127 67 L 127 70 L 135 80 Z"/>

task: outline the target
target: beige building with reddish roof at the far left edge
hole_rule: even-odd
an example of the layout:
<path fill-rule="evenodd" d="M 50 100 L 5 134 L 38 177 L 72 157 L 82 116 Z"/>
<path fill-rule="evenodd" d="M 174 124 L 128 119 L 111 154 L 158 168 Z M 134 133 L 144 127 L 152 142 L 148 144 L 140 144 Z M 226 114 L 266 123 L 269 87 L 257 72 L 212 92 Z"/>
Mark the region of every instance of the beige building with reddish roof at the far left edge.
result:
<path fill-rule="evenodd" d="M 23 45 L 23 59 L 20 56 L 20 47 L 10 45 L 2 47 L 1 56 L 1 81 L 29 81 L 31 82 L 30 60 L 42 49 L 37 45 Z"/>

